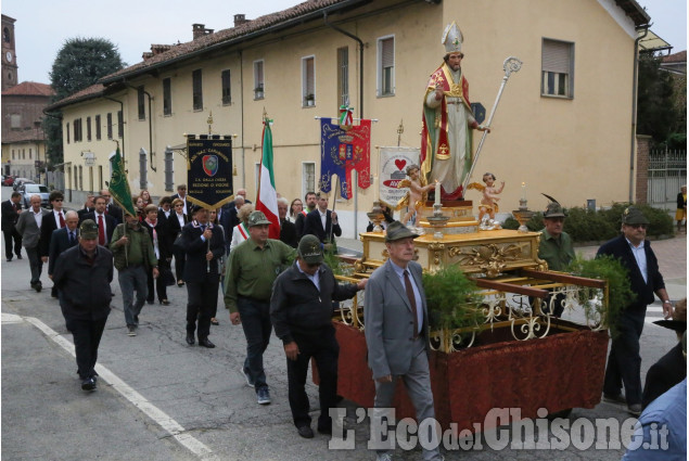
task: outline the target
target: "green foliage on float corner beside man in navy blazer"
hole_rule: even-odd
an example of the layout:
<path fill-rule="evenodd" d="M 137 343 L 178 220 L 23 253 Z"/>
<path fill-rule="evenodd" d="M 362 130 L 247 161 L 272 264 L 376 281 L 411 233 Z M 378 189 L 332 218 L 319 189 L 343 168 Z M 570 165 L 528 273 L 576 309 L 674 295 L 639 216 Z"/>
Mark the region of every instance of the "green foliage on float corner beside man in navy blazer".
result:
<path fill-rule="evenodd" d="M 610 329 L 611 336 L 616 337 L 620 315 L 636 299 L 627 269 L 614 256 L 584 259 L 582 255 L 577 255 L 566 271 L 573 276 L 608 282 L 608 305 L 603 302 L 600 290 L 585 286 L 577 291 L 578 302 L 588 320 L 600 319 L 601 324 Z"/>

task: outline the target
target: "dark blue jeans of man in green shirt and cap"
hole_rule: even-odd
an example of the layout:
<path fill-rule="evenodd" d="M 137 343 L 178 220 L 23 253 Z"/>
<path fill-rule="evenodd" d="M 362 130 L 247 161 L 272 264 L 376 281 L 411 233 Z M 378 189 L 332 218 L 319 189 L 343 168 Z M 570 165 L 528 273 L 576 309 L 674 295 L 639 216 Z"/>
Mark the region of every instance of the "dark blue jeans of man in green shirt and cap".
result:
<path fill-rule="evenodd" d="M 244 371 L 248 374 L 258 392 L 266 384 L 264 371 L 264 353 L 270 342 L 272 323 L 270 322 L 270 303 L 239 296 L 237 309 L 242 319 L 244 336 L 246 336 L 246 359 Z"/>

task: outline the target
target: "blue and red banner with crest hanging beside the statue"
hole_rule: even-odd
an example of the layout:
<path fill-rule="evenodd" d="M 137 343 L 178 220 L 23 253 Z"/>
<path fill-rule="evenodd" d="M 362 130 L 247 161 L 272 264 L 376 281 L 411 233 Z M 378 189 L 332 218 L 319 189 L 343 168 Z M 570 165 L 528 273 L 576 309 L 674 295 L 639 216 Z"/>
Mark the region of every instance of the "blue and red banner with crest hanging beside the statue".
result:
<path fill-rule="evenodd" d="M 352 171 L 356 170 L 361 189 L 371 185 L 371 120 L 359 125 L 336 125 L 320 119 L 320 180 L 322 192 L 332 190 L 332 176 L 340 180 L 340 195 L 352 199 Z"/>

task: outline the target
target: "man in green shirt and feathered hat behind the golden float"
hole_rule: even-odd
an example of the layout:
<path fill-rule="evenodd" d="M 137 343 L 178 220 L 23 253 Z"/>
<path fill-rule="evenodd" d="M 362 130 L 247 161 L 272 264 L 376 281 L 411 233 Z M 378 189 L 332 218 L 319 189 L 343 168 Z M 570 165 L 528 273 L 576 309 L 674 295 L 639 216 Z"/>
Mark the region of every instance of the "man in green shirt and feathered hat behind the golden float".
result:
<path fill-rule="evenodd" d="M 544 212 L 544 226 L 540 231 L 538 257 L 548 262 L 548 269 L 563 271 L 574 260 L 574 246 L 569 233 L 563 232 L 565 214 L 558 202 L 550 202 Z M 562 316 L 564 310 L 564 293 L 546 298 L 546 312 L 556 317 Z"/>

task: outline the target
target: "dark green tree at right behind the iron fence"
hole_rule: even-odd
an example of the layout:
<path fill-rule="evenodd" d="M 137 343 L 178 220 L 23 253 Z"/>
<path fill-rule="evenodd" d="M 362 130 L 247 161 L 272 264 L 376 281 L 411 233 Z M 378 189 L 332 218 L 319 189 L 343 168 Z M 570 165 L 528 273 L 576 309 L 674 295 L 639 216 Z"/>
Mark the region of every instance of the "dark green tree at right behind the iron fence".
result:
<path fill-rule="evenodd" d="M 662 56 L 645 53 L 639 56 L 639 90 L 637 132 L 649 135 L 654 144 L 666 143 L 684 130 L 678 120 L 685 119 L 675 104 L 673 76 L 661 69 Z"/>

